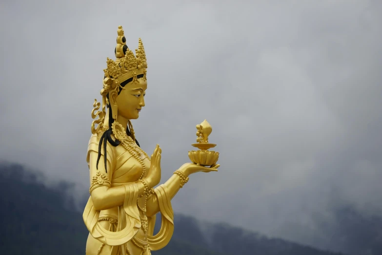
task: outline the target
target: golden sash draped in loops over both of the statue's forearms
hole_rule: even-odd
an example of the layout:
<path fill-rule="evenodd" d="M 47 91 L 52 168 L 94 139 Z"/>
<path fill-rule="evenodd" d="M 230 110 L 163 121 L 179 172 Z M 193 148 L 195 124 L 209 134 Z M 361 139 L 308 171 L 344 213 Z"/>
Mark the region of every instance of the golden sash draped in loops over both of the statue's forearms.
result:
<path fill-rule="evenodd" d="M 122 184 L 120 184 L 122 185 Z M 110 255 L 126 255 L 126 243 L 129 242 L 141 228 L 140 212 L 137 207 L 138 185 L 129 183 L 125 187 L 125 200 L 118 207 L 117 231 L 106 230 L 99 222 L 100 211 L 95 210 L 91 196 L 82 214 L 83 221 L 89 233 L 101 243 L 111 246 Z M 167 187 L 162 184 L 155 189 L 161 212 L 161 229 L 154 234 L 156 216 L 148 217 L 147 241 L 150 250 L 157 251 L 165 247 L 174 233 L 174 212 Z"/>

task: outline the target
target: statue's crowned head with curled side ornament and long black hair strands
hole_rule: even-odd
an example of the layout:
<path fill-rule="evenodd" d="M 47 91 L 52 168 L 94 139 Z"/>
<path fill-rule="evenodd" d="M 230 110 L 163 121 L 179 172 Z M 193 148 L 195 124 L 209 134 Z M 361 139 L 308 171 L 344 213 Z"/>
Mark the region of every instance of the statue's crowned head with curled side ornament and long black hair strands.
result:
<path fill-rule="evenodd" d="M 105 74 L 103 76 L 103 88 L 101 89 L 102 110 L 95 112 L 101 106 L 95 100 L 93 104 L 95 108 L 92 111 L 93 119 L 97 116 L 99 117 L 98 120 L 92 122 L 92 133 L 96 134 L 104 131 L 100 138 L 100 146 L 102 141 L 104 141 L 105 151 L 106 141 L 112 146 L 119 145 L 117 137 L 115 137 L 115 141 L 111 139 L 111 133 L 114 132 L 113 125 L 118 126 L 118 122 L 116 122 L 118 116 L 128 120 L 128 127 L 121 127 L 121 130 L 125 130 L 126 134 L 139 146 L 130 120 L 138 119 L 139 112 L 144 106 L 143 97 L 147 88 L 147 61 L 141 38 L 139 39 L 138 49 L 135 50 L 134 56 L 134 53 L 126 45 L 122 26 L 118 27 L 117 33 L 117 47 L 114 51 L 116 60 L 107 58 L 107 68 L 103 70 Z M 108 123 L 105 123 L 106 106 L 109 107 Z M 96 125 L 98 126 L 96 127 Z M 98 152 L 97 169 L 100 157 L 101 150 Z M 104 164 L 106 170 L 106 152 Z"/>

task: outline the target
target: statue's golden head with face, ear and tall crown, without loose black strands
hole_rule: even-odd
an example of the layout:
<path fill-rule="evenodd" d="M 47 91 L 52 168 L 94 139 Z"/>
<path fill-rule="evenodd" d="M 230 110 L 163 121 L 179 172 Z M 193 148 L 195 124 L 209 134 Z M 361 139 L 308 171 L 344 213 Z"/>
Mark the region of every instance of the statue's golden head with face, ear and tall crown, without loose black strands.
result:
<path fill-rule="evenodd" d="M 138 49 L 134 53 L 127 47 L 122 26 L 118 27 L 116 60 L 107 58 L 104 69 L 102 95 L 102 114 L 105 117 L 105 106 L 109 106 L 109 123 L 122 116 L 126 119 L 138 119 L 144 106 L 144 95 L 147 88 L 147 61 L 143 43 L 139 39 Z M 100 116 L 100 119 L 102 116 Z M 98 121 L 100 122 L 100 121 Z M 92 132 L 98 132 L 92 127 Z"/>

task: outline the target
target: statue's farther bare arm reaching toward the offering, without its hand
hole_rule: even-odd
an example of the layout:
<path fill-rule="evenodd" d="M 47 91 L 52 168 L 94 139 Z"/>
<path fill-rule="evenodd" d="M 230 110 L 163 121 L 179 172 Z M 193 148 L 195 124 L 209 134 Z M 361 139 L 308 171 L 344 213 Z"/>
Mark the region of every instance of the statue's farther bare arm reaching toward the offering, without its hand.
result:
<path fill-rule="evenodd" d="M 188 174 L 185 174 L 181 170 L 178 170 L 178 172 L 179 171 L 183 173 L 184 177 L 188 177 Z M 168 191 L 167 195 L 170 197 L 170 199 L 173 199 L 173 197 L 178 193 L 178 191 L 181 189 L 183 184 L 184 184 L 184 181 L 182 182 L 181 175 L 175 174 L 175 173 L 164 183 L 164 185 L 167 187 L 167 191 Z M 152 217 L 158 212 L 160 212 L 158 198 L 155 194 L 153 194 L 147 199 L 146 215 L 148 217 Z"/>

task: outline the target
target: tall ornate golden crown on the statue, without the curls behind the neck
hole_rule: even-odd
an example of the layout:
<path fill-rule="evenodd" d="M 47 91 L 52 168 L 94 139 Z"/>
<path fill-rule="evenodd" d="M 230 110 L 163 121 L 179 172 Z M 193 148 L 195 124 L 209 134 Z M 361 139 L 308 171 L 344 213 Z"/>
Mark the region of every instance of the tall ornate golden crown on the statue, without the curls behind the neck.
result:
<path fill-rule="evenodd" d="M 139 39 L 138 49 L 134 53 L 127 47 L 126 38 L 122 26 L 118 26 L 117 47 L 115 49 L 116 60 L 107 58 L 107 68 L 104 69 L 103 89 L 101 95 L 106 95 L 112 89 L 119 89 L 121 83 L 133 78 L 132 81 L 138 81 L 138 76 L 146 80 L 146 53 L 141 38 Z"/>

